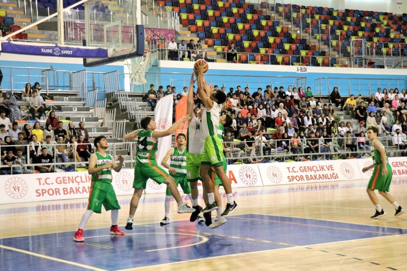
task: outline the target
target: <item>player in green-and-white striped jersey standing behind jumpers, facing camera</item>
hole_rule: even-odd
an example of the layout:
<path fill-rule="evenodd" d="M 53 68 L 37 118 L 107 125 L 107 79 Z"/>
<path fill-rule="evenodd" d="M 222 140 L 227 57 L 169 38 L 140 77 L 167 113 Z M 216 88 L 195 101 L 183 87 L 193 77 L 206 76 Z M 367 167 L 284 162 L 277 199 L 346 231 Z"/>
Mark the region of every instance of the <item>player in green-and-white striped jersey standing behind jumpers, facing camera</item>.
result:
<path fill-rule="evenodd" d="M 175 185 L 178 184 L 181 186 L 184 194 L 188 195 L 189 199 L 192 202 L 191 197 L 191 188 L 189 186 L 188 179 L 186 178 L 186 157 L 188 151 L 185 148 L 186 136 L 183 133 L 177 135 L 177 146 L 169 149 L 161 161 L 161 165 L 164 168 L 167 168 L 170 176 L 175 179 Z M 168 164 L 168 159 L 170 164 Z M 165 216 L 164 219 L 160 222 L 160 225 L 166 225 L 170 223 L 170 203 L 171 203 L 171 192 L 167 187 L 166 196 L 165 196 Z M 195 208 L 194 208 L 195 209 Z M 205 222 L 205 219 L 198 217 L 198 223 Z"/>

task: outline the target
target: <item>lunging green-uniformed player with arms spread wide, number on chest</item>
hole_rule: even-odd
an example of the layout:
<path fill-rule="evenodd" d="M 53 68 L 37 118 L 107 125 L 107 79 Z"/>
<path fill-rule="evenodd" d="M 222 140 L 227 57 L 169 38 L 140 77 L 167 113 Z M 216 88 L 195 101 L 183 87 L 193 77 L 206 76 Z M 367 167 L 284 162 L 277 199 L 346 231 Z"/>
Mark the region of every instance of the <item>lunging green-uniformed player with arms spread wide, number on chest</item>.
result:
<path fill-rule="evenodd" d="M 174 178 L 169 176 L 164 169 L 157 164 L 155 152 L 157 151 L 157 140 L 164 136 L 170 136 L 181 125 L 182 122 L 189 120 L 190 116 L 185 116 L 171 127 L 164 131 L 156 131 L 157 125 L 151 117 L 144 117 L 140 121 L 140 125 L 143 129 L 138 129 L 125 135 L 124 139 L 137 142 L 136 149 L 136 164 L 134 166 L 134 181 L 133 188 L 134 194 L 130 201 L 129 218 L 127 219 L 127 225 L 125 229 L 133 229 L 133 218 L 136 213 L 138 202 L 142 195 L 143 190 L 146 188 L 147 180 L 151 178 L 158 184 L 166 184 L 173 195 L 174 199 L 178 203 L 179 213 L 191 213 L 195 209 L 190 208 L 184 201 L 182 201 L 181 195 L 177 186 L 175 185 Z"/>

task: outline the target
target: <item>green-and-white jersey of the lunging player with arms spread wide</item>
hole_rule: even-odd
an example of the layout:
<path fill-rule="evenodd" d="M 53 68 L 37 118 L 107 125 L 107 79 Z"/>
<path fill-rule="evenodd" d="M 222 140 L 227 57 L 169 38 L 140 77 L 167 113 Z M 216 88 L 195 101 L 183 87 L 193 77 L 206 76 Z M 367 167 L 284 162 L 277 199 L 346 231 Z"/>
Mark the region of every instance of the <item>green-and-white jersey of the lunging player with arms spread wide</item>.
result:
<path fill-rule="evenodd" d="M 153 142 L 153 131 L 141 130 L 137 133 L 136 163 L 140 166 L 157 166 L 155 152 L 158 142 Z"/>

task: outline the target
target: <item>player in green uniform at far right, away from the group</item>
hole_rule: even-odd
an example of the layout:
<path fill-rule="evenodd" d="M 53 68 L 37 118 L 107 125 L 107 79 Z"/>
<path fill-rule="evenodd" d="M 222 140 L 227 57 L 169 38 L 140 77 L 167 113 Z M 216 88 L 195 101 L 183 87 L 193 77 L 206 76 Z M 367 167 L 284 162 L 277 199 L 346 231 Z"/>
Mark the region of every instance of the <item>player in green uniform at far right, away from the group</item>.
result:
<path fill-rule="evenodd" d="M 379 194 L 387 199 L 389 203 L 393 204 L 396 209 L 396 214 L 394 214 L 394 216 L 400 216 L 405 212 L 389 193 L 390 183 L 393 176 L 392 166 L 390 166 L 387 159 L 386 150 L 381 142 L 377 140 L 378 135 L 379 131 L 376 127 L 368 128 L 368 139 L 372 142 L 371 151 L 373 164 L 362 169 L 362 172 L 366 172 L 371 168 L 374 168 L 372 177 L 370 177 L 369 180 L 368 188 L 366 189 L 370 200 L 376 208 L 376 213 L 373 216 L 370 216 L 371 219 L 378 219 L 386 215 L 386 212 L 379 204 L 379 199 L 377 198 L 376 193 L 374 193 L 374 190 L 379 190 Z"/>

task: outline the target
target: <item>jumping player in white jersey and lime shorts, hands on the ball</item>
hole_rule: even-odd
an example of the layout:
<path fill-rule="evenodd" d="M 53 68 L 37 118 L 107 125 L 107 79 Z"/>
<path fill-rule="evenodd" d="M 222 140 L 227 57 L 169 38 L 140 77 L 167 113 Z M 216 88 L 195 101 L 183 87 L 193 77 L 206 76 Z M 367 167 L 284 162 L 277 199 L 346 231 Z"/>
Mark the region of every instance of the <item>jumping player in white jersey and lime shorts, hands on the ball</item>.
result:
<path fill-rule="evenodd" d="M 217 136 L 221 104 L 226 101 L 226 94 L 221 90 L 213 91 L 211 85 L 206 84 L 203 71 L 204 68 L 202 65 L 199 65 L 195 71 L 198 82 L 198 95 L 205 105 L 201 119 L 201 129 L 205 136 L 205 144 L 199 172 L 202 177 L 203 186 L 208 190 L 208 204 L 203 212 L 211 212 L 219 208 L 215 202 L 214 187 L 210 185 L 211 178 L 208 174 L 212 166 L 221 179 L 228 200 L 225 211 L 222 213 L 222 216 L 217 217 L 217 220 L 225 220 L 223 216 L 228 215 L 237 207 L 236 202 L 233 200 L 230 180 L 223 170 L 223 160 L 225 159 L 223 156 L 223 143 Z M 231 124 L 228 122 L 232 122 L 232 119 L 227 120 L 225 127 Z M 217 220 L 215 220 L 214 223 L 222 222 Z"/>

